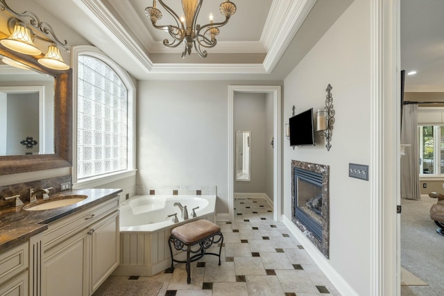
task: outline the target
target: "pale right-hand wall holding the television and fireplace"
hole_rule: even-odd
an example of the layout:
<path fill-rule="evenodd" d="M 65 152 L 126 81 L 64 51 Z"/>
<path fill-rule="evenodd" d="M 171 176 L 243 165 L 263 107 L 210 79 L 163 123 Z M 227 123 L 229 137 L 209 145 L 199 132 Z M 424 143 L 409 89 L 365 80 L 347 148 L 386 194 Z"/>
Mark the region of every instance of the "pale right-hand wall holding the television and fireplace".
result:
<path fill-rule="evenodd" d="M 284 139 L 284 215 L 291 219 L 291 160 L 330 166 L 330 264 L 356 291 L 370 293 L 370 182 L 348 177 L 348 164 L 370 163 L 370 1 L 355 0 L 284 81 L 285 121 L 325 105 L 336 110 L 332 148 L 289 147 Z M 373 168 L 370 168 L 372 170 Z"/>

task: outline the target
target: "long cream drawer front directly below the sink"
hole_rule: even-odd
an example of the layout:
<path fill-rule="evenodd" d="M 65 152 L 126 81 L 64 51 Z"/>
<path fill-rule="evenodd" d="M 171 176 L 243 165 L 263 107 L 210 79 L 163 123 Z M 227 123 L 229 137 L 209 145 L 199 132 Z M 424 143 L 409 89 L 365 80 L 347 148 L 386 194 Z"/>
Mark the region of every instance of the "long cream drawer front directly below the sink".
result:
<path fill-rule="evenodd" d="M 83 211 L 70 214 L 65 218 L 49 223 L 48 229 L 44 232 L 44 250 L 49 250 L 60 241 L 67 239 L 80 229 L 84 229 L 87 225 L 99 220 L 101 217 L 108 215 L 112 211 L 119 209 L 119 195 L 114 198 L 105 200 L 94 207 L 87 208 Z"/>

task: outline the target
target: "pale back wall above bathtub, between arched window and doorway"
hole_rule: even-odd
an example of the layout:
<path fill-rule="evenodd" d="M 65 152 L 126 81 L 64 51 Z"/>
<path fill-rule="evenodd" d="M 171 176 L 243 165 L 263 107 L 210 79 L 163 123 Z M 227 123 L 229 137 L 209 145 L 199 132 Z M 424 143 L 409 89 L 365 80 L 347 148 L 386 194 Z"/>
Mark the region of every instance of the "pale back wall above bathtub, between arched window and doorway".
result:
<path fill-rule="evenodd" d="M 137 185 L 217 186 L 216 212 L 228 213 L 228 87 L 251 84 L 139 81 Z"/>

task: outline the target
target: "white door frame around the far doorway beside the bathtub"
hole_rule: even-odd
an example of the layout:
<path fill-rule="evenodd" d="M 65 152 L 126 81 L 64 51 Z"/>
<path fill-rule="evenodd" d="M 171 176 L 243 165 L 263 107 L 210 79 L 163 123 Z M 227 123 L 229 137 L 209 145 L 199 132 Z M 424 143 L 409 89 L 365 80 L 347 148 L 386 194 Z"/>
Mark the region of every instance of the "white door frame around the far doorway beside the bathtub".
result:
<path fill-rule="evenodd" d="M 230 85 L 229 94 L 229 115 L 228 115 L 228 215 L 234 220 L 234 94 L 241 93 L 260 93 L 273 94 L 273 219 L 280 221 L 281 212 L 281 128 L 280 128 L 280 86 L 264 85 Z"/>

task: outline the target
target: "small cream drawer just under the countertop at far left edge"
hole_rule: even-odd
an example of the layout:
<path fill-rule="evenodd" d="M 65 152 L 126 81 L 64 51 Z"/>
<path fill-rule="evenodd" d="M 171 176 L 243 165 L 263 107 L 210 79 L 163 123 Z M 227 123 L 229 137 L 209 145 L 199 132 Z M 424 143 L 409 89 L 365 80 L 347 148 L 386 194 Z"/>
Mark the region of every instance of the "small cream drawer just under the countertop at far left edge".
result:
<path fill-rule="evenodd" d="M 0 284 L 28 268 L 29 243 L 26 242 L 0 255 Z"/>

